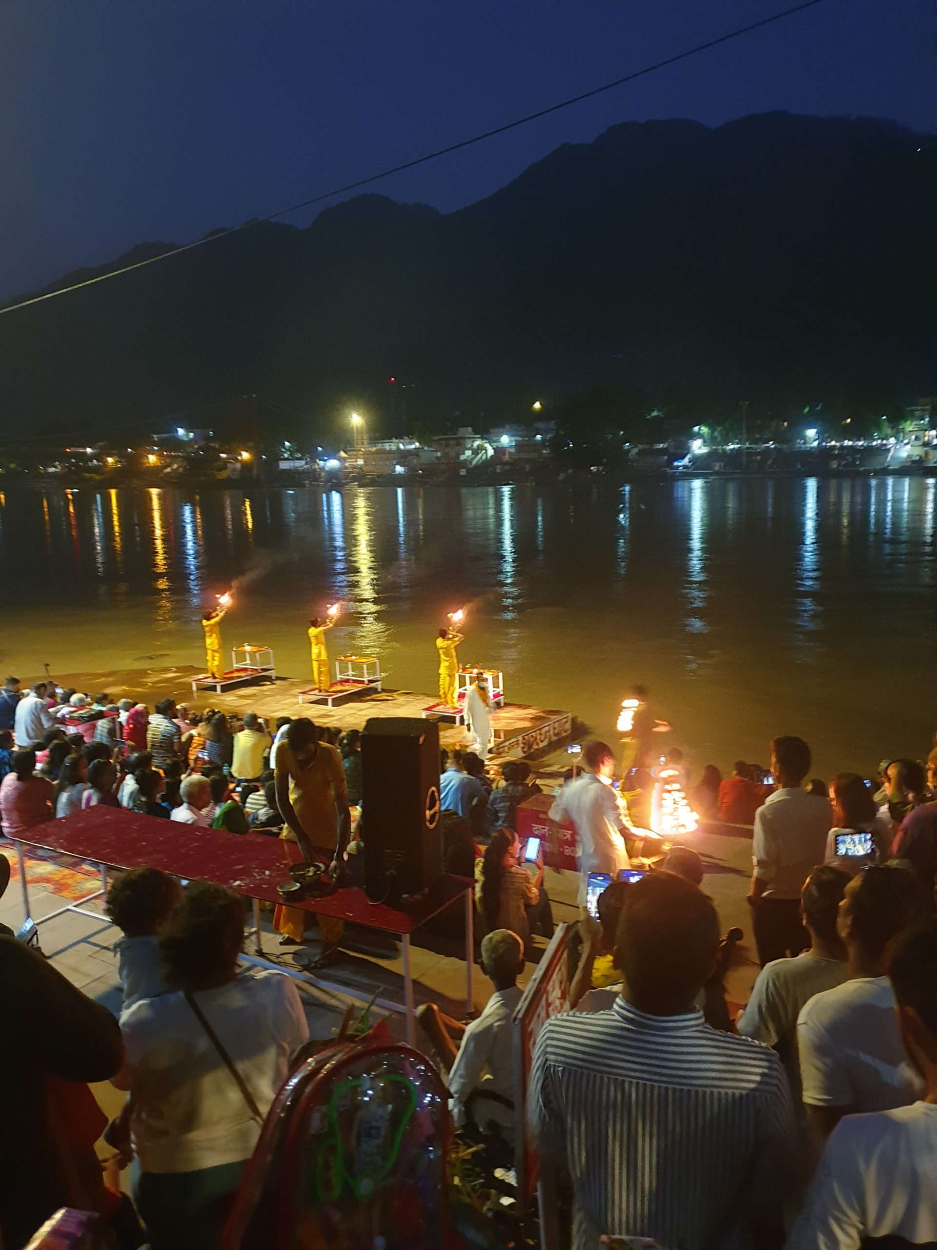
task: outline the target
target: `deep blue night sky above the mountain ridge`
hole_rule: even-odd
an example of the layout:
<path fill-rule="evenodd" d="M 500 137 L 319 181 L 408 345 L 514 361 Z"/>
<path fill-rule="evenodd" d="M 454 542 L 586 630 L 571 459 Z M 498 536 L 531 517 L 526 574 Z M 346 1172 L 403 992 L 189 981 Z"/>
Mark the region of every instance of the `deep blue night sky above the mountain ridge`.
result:
<path fill-rule="evenodd" d="M 788 4 L 5 0 L 0 298 L 275 211 Z M 787 109 L 931 130 L 932 26 L 928 0 L 825 0 L 372 190 L 451 210 L 648 118 Z"/>

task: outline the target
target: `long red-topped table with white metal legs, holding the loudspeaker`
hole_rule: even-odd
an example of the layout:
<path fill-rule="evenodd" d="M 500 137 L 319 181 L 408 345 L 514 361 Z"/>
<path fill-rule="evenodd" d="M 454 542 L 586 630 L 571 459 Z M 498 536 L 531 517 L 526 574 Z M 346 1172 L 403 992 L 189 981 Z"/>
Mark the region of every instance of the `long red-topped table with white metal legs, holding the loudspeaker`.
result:
<path fill-rule="evenodd" d="M 224 829 L 204 829 L 197 825 L 184 825 L 180 821 L 160 820 L 156 816 L 141 816 L 134 811 L 117 808 L 95 806 L 87 811 L 77 811 L 62 820 L 49 820 L 35 825 L 29 838 L 16 842 L 20 861 L 20 882 L 22 886 L 22 905 L 30 919 L 29 885 L 26 864 L 22 855 L 22 842 L 30 846 L 42 846 L 61 855 L 74 855 L 76 859 L 90 860 L 101 866 L 101 889 L 79 899 L 76 902 L 60 908 L 37 924 L 52 920 L 65 911 L 77 911 L 95 920 L 97 912 L 84 911 L 82 904 L 101 898 L 107 889 L 107 868 L 159 868 L 172 876 L 192 881 L 215 881 L 236 890 L 254 900 L 255 942 L 257 955 L 265 964 L 291 975 L 310 980 L 325 988 L 327 981 L 284 969 L 280 964 L 264 960 L 260 932 L 260 900 L 282 902 L 276 886 L 289 878 L 290 864 L 301 859 L 295 842 L 269 838 L 265 834 L 229 834 Z M 465 898 L 466 928 L 466 1009 L 472 1010 L 472 886 L 473 882 L 460 876 L 442 876 L 414 908 L 399 911 L 386 904 L 371 902 L 364 890 L 336 890 L 322 899 L 290 901 L 289 906 L 317 915 L 332 916 L 349 924 L 364 925 L 369 929 L 381 929 L 400 938 L 404 956 L 404 1006 L 389 999 L 376 999 L 379 1006 L 394 1011 L 404 1011 L 407 1018 L 407 1040 L 414 1045 L 414 981 L 410 971 L 410 935 L 421 924 L 450 906 L 460 896 Z M 252 956 L 246 956 L 251 959 Z M 347 994 L 347 989 L 336 986 Z"/>

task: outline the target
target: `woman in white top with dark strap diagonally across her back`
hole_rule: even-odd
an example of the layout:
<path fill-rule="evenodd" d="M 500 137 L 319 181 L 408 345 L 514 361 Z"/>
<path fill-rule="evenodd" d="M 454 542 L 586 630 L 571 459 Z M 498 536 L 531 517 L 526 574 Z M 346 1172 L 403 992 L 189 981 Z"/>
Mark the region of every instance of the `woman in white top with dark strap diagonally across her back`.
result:
<path fill-rule="evenodd" d="M 120 1022 L 126 1060 L 114 1084 L 134 1099 L 134 1199 L 151 1250 L 219 1245 L 259 1116 L 286 1080 L 291 1051 L 309 1038 L 289 976 L 239 970 L 245 919 L 240 895 L 190 885 L 160 939 L 170 992 L 135 1004 Z"/>

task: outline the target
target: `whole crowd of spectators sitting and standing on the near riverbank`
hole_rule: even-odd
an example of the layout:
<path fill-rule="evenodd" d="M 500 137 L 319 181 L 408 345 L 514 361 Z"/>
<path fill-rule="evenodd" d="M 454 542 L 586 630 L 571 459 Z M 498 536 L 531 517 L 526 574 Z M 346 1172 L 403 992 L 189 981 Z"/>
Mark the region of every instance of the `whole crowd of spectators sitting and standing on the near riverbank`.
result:
<path fill-rule="evenodd" d="M 331 856 L 336 875 L 345 869 L 349 804 L 361 799 L 357 735 L 335 744 L 304 719 L 271 734 L 251 712 L 235 720 L 164 700 L 150 715 L 104 694 L 61 694 L 57 706 L 77 715 L 56 720 L 40 688 L 22 718 L 27 700 L 15 704 L 0 784 L 7 836 L 105 804 L 235 835 L 271 831 L 309 859 Z M 69 730 L 89 709 L 102 715 L 86 716 L 95 730 L 77 742 Z M 105 719 L 109 738 L 96 728 Z M 612 880 L 597 920 L 582 910 L 566 1010 L 540 1029 L 526 1085 L 542 1216 L 568 1195 L 573 1250 L 603 1239 L 663 1250 L 937 1242 L 937 752 L 926 769 L 883 761 L 871 785 L 851 772 L 808 782 L 811 752 L 797 738 L 772 741 L 771 784 L 742 761 L 727 781 L 707 769 L 693 801 L 703 805 L 702 788 L 708 819 L 753 826 L 761 971 L 735 1019 L 701 858 L 673 848 L 638 880 L 617 879 L 640 830 L 610 784 L 611 750 L 590 744 L 583 764 L 551 810 L 573 825 L 583 872 Z M 442 761 L 444 862 L 475 878 L 493 992 L 466 1024 L 434 1006 L 420 1020 L 456 1125 L 482 1140 L 517 1131 L 511 1018 L 525 955 L 553 932 L 542 856 L 526 859 L 516 828 L 537 791 L 521 761 L 493 781 L 472 752 Z M 320 845 L 322 804 L 332 830 L 337 812 L 337 846 L 334 834 Z M 119 1025 L 0 938 L 4 1041 L 17 1071 L 2 1122 L 21 1142 L 0 1170 L 2 1244 L 21 1246 L 71 1201 L 77 1175 L 119 1245 L 140 1244 L 139 1218 L 152 1250 L 210 1250 L 309 1036 L 302 1005 L 286 975 L 239 964 L 245 904 L 220 885 L 181 889 L 135 869 L 114 880 L 107 910 L 124 934 Z M 275 925 L 301 941 L 305 919 L 277 908 Z M 129 1091 L 107 1140 L 135 1160 L 130 1210 L 94 1160 L 94 1100 L 71 1121 L 72 1168 L 37 1110 L 49 1081 L 107 1079 Z"/>

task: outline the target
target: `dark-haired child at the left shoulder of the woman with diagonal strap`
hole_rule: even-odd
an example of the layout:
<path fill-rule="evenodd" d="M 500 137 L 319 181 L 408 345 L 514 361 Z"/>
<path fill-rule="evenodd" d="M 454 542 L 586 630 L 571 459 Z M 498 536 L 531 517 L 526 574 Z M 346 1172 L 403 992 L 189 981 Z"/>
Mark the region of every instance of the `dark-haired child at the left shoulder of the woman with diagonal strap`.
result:
<path fill-rule="evenodd" d="M 132 868 L 107 891 L 107 915 L 124 930 L 114 945 L 124 995 L 121 1012 L 141 999 L 166 992 L 160 934 L 181 896 L 179 881 L 157 868 Z"/>

